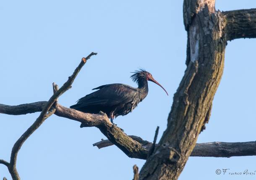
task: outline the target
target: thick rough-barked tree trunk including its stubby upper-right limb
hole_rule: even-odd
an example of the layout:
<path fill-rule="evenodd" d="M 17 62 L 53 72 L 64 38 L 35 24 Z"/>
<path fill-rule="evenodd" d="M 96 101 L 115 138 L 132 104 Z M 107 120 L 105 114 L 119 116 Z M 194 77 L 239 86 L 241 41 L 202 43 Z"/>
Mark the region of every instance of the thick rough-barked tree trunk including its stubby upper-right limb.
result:
<path fill-rule="evenodd" d="M 221 13 L 215 10 L 215 0 L 184 0 L 187 69 L 174 95 L 167 129 L 142 167 L 140 180 L 178 179 L 209 120 L 223 73 L 227 40 L 255 37 L 255 12 Z"/>

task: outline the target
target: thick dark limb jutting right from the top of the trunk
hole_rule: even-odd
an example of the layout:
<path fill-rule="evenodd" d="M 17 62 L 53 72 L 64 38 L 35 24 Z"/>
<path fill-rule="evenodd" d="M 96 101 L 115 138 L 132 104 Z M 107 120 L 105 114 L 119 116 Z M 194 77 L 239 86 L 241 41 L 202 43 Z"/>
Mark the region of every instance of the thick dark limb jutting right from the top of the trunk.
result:
<path fill-rule="evenodd" d="M 256 9 L 231 10 L 223 14 L 227 20 L 227 40 L 256 38 Z"/>

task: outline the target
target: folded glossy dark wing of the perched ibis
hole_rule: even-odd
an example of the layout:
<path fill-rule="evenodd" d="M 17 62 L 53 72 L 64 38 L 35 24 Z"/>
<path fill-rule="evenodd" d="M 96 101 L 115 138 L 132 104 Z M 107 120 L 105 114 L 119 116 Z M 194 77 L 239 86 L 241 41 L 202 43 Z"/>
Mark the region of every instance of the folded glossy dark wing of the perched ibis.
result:
<path fill-rule="evenodd" d="M 99 89 L 78 100 L 73 108 L 82 108 L 86 106 L 115 106 L 119 103 L 131 101 L 136 96 L 136 88 L 125 84 L 106 84 L 94 89 Z M 72 106 L 71 106 L 72 108 Z"/>

